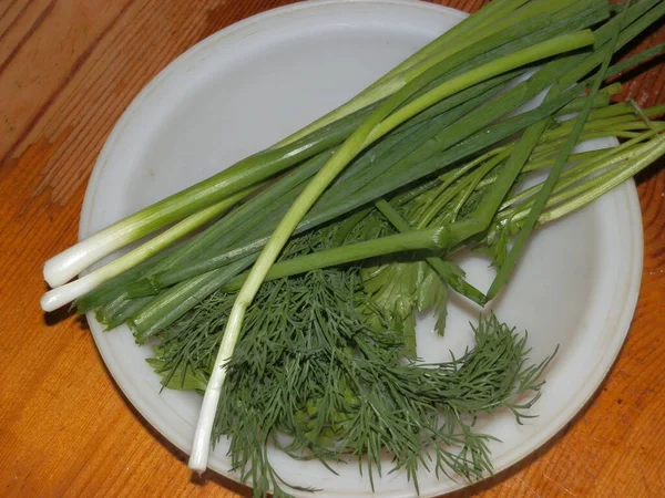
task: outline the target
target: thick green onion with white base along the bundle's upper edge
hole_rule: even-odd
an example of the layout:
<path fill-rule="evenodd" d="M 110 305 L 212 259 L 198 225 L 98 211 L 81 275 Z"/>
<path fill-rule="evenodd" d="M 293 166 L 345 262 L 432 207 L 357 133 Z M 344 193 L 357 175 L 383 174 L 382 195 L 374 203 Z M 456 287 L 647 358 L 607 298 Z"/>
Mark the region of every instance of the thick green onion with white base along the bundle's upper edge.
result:
<path fill-rule="evenodd" d="M 536 14 L 549 15 L 573 3 L 572 0 L 550 0 L 534 2 L 535 7 L 522 9 L 518 17 L 505 17 L 499 23 L 491 23 L 499 13 L 505 15 L 518 10 L 528 0 L 498 0 L 479 13 L 462 21 L 431 42 L 427 48 L 407 59 L 391 73 L 377 81 L 338 110 L 306 126 L 279 144 L 249 156 L 232 167 L 190 188 L 174 194 L 141 211 L 117 221 L 90 238 L 72 246 L 44 263 L 44 280 L 51 287 L 66 283 L 81 271 L 103 257 L 127 246 L 178 219 L 192 215 L 222 200 L 228 199 L 252 185 L 257 185 L 303 159 L 339 143 L 348 129 L 358 124 L 371 105 L 393 94 L 423 71 L 442 59 L 470 45 L 472 40 L 490 37 L 500 28 L 511 28 Z M 489 24 L 489 25 L 488 25 Z M 473 39 L 466 33 L 485 27 L 484 32 Z M 457 46 L 450 49 L 450 46 Z M 331 129 L 332 127 L 332 129 Z M 321 133 L 323 132 L 323 133 Z"/>

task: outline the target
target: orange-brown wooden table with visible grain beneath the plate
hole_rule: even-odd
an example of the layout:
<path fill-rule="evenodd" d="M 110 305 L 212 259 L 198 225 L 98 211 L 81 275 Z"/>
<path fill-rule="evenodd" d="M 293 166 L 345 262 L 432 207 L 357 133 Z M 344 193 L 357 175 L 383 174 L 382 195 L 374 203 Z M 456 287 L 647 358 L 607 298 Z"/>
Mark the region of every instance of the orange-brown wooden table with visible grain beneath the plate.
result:
<path fill-rule="evenodd" d="M 215 31 L 279 0 L 0 1 L 0 494 L 218 496 L 122 396 L 85 322 L 41 313 L 43 261 L 76 240 L 95 158 L 140 89 Z M 467 11 L 482 0 L 442 1 Z M 655 30 L 646 43 L 661 42 Z M 665 64 L 627 95 L 665 102 Z M 628 340 L 597 396 L 516 467 L 458 496 L 665 496 L 665 169 L 638 178 L 644 274 Z"/>

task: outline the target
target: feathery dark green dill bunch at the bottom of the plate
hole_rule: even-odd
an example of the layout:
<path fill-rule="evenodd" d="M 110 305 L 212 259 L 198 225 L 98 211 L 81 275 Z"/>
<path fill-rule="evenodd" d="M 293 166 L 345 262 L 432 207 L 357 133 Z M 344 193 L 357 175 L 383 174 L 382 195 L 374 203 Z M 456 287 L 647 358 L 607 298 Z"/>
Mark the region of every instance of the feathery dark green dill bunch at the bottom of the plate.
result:
<path fill-rule="evenodd" d="M 205 388 L 233 300 L 215 292 L 161 334 L 151 363 L 165 385 Z M 475 417 L 500 407 L 518 422 L 529 416 L 550 359 L 528 365 L 525 335 L 494 315 L 474 328 L 473 349 L 446 363 L 406 361 L 401 329 L 362 291 L 358 268 L 262 287 L 227 364 L 214 426 L 255 496 L 297 488 L 270 466 L 269 446 L 330 469 L 356 459 L 372 486 L 386 454 L 388 471 L 407 471 L 417 490 L 421 466 L 470 480 L 491 473 L 493 437 L 474 430 Z"/>

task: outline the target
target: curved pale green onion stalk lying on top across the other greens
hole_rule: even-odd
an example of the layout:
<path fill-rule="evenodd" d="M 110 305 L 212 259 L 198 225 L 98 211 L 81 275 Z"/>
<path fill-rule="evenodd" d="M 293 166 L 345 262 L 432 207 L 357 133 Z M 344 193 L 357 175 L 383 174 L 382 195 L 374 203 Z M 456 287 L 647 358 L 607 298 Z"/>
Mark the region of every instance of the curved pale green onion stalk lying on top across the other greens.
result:
<path fill-rule="evenodd" d="M 201 409 L 198 423 L 194 434 L 194 444 L 190 456 L 188 466 L 191 469 L 202 473 L 207 468 L 207 457 L 209 453 L 209 443 L 212 427 L 217 412 L 217 404 L 222 385 L 224 383 L 226 367 L 225 364 L 231 359 L 235 344 L 239 338 L 244 315 L 247 307 L 254 300 L 256 292 L 265 280 L 270 267 L 279 256 L 279 252 L 288 241 L 289 237 L 320 197 L 324 190 L 341 173 L 341 170 L 367 146 L 386 135 L 388 132 L 403 123 L 408 118 L 424 111 L 442 98 L 461 92 L 469 86 L 480 83 L 498 74 L 514 70 L 516 68 L 554 56 L 564 52 L 579 50 L 593 44 L 594 37 L 589 30 L 571 34 L 564 34 L 553 40 L 540 43 L 538 45 L 524 49 L 511 55 L 507 55 L 497 61 L 490 62 L 484 66 L 469 71 L 468 73 L 449 80 L 441 85 L 430 90 L 422 96 L 411 103 L 398 108 L 422 83 L 419 79 L 405 85 L 396 92 L 382 105 L 380 105 L 372 115 L 354 132 L 349 138 L 340 146 L 339 151 L 326 163 L 321 170 L 307 185 L 305 190 L 291 205 L 289 211 L 282 218 L 273 236 L 263 249 L 259 258 L 256 260 L 247 280 L 238 292 L 231 311 L 228 324 L 224 333 L 224 339 L 219 346 L 217 360 L 213 373 L 206 387 L 203 406 Z M 427 74 L 427 72 L 424 73 Z M 424 82 L 427 84 L 428 82 Z M 418 86 L 420 85 L 420 86 Z"/>

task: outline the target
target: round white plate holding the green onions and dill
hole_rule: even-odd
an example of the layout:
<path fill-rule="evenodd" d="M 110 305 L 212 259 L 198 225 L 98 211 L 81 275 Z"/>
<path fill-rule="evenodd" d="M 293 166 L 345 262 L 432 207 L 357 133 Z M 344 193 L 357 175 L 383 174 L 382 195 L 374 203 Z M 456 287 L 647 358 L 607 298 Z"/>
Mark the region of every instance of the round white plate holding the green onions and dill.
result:
<path fill-rule="evenodd" d="M 214 34 L 168 65 L 115 126 L 88 187 L 80 237 L 273 144 L 354 95 L 463 15 L 413 1 L 316 1 L 273 10 Z M 464 267 L 472 281 L 489 283 L 487 261 L 468 259 Z M 534 237 L 494 308 L 501 320 L 529 330 L 534 361 L 556 344 L 560 352 L 534 407 L 540 417 L 524 426 L 507 413 L 480 422 L 481 429 L 504 442 L 492 445 L 497 470 L 555 435 L 593 395 L 625 339 L 641 267 L 642 225 L 632 183 Z M 475 321 L 477 312 L 454 302 L 444 340 L 431 334 L 424 320 L 421 354 L 444 359 L 448 347 L 467 344 L 468 322 Z M 144 362 L 150 350 L 137 347 L 126 328 L 103 333 L 94 317 L 88 319 L 109 371 L 130 402 L 164 437 L 188 452 L 200 396 L 160 394 L 158 378 Z M 209 465 L 228 476 L 225 448 L 218 446 Z M 320 497 L 371 492 L 352 465 L 338 468 L 340 476 L 335 477 L 318 463 L 295 465 L 278 454 L 272 460 L 287 481 L 323 488 Z M 420 476 L 423 496 L 463 485 L 424 471 Z M 376 494 L 402 497 L 415 491 L 403 474 L 395 474 L 377 483 Z"/>

